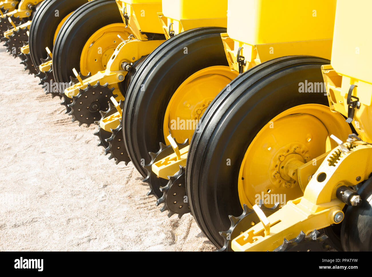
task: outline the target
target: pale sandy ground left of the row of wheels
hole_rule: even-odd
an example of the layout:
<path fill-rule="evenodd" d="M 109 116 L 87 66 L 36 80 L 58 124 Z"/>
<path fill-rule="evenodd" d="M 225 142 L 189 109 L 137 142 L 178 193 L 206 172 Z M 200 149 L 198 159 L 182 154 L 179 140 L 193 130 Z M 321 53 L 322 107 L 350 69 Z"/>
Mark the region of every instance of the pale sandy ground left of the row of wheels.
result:
<path fill-rule="evenodd" d="M 131 163 L 71 123 L 0 47 L 0 251 L 210 251 L 190 215 L 170 219 Z"/>

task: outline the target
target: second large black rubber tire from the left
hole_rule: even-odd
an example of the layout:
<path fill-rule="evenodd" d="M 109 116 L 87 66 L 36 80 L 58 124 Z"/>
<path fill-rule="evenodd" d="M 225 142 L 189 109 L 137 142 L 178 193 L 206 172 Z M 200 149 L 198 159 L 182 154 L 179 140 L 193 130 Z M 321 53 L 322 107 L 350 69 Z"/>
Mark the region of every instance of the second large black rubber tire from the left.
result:
<path fill-rule="evenodd" d="M 80 71 L 84 45 L 94 32 L 123 23 L 115 0 L 94 0 L 76 9 L 62 25 L 53 47 L 53 74 L 57 83 L 68 83 L 73 68 Z"/>

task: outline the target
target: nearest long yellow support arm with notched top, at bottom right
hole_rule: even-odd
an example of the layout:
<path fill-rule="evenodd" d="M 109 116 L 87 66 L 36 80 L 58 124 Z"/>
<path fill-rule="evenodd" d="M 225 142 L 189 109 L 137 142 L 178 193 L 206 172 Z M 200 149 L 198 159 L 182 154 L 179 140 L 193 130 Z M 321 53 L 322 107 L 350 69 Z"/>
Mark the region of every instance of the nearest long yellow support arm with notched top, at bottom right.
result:
<path fill-rule="evenodd" d="M 344 148 L 349 151 L 344 151 Z M 344 203 L 336 197 L 341 186 L 355 186 L 368 179 L 372 172 L 372 146 L 361 142 L 337 146 L 321 163 L 305 188 L 304 196 L 289 201 L 267 222 L 258 223 L 232 240 L 234 251 L 272 251 L 283 239 L 293 239 L 301 231 L 306 235 L 314 229 L 340 223 Z M 341 220 L 336 220 L 336 215 Z M 261 217 L 263 218 L 263 217 Z M 263 218 L 264 219 L 264 218 Z M 262 219 L 261 219 L 262 220 Z"/>

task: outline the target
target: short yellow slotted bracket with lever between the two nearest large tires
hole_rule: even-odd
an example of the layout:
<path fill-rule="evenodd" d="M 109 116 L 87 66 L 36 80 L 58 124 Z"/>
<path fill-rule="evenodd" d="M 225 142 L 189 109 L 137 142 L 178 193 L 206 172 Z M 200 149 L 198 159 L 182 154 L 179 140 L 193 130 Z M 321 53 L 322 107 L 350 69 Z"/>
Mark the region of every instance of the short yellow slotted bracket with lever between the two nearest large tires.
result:
<path fill-rule="evenodd" d="M 169 137 L 168 137 L 169 139 Z M 172 138 L 173 141 L 173 138 Z M 175 143 L 174 143 L 175 144 Z M 171 142 L 172 145 L 172 142 Z M 177 146 L 177 144 L 175 144 Z M 187 153 L 189 152 L 189 145 L 178 149 L 172 145 L 175 152 L 164 159 L 161 159 L 151 166 L 151 170 L 160 178 L 168 179 L 168 176 L 173 176 L 180 168 L 186 166 Z"/>

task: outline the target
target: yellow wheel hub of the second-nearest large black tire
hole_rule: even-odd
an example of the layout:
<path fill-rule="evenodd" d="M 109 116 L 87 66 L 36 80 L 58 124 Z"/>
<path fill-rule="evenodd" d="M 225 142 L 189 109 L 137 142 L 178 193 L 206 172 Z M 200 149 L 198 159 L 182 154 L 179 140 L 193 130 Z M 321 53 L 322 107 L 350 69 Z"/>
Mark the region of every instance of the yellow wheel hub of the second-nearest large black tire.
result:
<path fill-rule="evenodd" d="M 187 78 L 175 91 L 164 117 L 164 138 L 172 135 L 177 142 L 189 141 L 205 110 L 237 72 L 227 66 L 207 67 Z"/>

